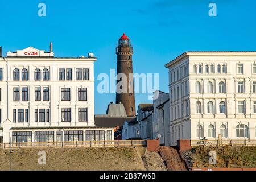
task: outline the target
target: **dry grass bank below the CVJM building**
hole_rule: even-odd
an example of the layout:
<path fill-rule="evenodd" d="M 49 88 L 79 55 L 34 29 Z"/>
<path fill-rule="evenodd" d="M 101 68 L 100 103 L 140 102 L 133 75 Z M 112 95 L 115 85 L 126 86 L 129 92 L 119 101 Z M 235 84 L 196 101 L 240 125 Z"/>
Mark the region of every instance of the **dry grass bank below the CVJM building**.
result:
<path fill-rule="evenodd" d="M 46 152 L 46 165 L 38 152 Z M 43 148 L 13 151 L 13 170 L 144 170 L 135 148 Z M 0 170 L 10 169 L 10 151 L 0 150 Z"/>

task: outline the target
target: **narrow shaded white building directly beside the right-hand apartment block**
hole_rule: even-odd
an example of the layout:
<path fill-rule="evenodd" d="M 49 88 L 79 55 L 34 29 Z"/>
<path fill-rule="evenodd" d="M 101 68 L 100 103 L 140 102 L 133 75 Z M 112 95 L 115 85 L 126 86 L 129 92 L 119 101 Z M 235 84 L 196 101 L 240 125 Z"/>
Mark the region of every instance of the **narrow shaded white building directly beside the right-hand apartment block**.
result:
<path fill-rule="evenodd" d="M 161 145 L 170 146 L 170 102 L 169 94 L 156 90 L 153 100 L 152 139 L 159 138 Z"/>

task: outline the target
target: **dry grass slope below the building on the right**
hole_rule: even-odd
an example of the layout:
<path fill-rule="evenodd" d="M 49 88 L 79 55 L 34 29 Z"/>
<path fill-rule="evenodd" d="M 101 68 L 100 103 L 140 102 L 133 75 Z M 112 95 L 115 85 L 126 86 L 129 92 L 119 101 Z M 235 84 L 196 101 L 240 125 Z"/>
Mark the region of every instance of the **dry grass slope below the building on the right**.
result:
<path fill-rule="evenodd" d="M 217 164 L 210 165 L 209 151 L 217 152 Z M 196 147 L 185 152 L 191 167 L 256 168 L 256 146 Z"/>

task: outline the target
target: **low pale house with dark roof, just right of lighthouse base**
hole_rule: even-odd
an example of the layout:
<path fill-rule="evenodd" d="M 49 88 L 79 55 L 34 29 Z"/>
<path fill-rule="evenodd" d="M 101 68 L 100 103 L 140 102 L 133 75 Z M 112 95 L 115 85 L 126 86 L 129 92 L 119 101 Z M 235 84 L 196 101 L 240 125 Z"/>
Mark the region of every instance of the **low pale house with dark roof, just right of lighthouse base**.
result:
<path fill-rule="evenodd" d="M 122 140 L 152 139 L 152 112 L 153 104 L 139 104 L 138 115 L 122 126 Z"/>

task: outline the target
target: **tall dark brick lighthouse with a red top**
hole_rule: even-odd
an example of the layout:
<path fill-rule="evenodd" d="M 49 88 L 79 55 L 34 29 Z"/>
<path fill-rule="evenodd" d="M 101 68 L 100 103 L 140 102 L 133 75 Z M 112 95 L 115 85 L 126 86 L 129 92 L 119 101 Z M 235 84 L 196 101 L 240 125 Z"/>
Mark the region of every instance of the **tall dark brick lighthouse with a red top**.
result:
<path fill-rule="evenodd" d="M 133 85 L 133 47 L 131 46 L 130 39 L 125 34 L 118 40 L 115 53 L 117 54 L 117 75 L 118 73 L 123 73 L 127 78 L 126 88 L 120 87 L 121 89 L 126 90 L 126 92 L 117 92 L 115 103 L 122 103 L 123 106 L 125 106 L 127 116 L 134 116 L 136 115 L 136 111 Z M 117 80 L 117 85 L 120 81 L 122 81 L 122 79 Z"/>

